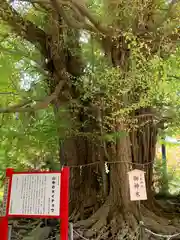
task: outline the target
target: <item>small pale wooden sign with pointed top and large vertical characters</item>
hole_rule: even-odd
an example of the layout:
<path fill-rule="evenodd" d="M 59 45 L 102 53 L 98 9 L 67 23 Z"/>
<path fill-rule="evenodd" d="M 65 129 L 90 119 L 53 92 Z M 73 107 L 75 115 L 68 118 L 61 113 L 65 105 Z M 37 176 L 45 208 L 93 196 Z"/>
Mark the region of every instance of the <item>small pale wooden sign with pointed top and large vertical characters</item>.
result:
<path fill-rule="evenodd" d="M 145 172 L 135 169 L 128 172 L 131 201 L 147 200 Z"/>

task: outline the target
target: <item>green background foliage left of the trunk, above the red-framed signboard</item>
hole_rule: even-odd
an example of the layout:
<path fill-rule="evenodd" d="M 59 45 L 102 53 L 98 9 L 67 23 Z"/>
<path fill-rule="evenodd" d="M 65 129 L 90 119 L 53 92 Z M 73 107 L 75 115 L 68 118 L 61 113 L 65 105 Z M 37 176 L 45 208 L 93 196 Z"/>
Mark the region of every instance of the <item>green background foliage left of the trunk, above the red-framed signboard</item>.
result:
<path fill-rule="evenodd" d="M 12 35 L 2 39 L 0 49 L 0 108 L 30 99 L 43 100 L 47 96 L 46 75 L 39 66 L 41 55 L 35 47 Z M 64 112 L 59 109 L 63 119 L 58 123 L 51 107 L 35 113 L 1 114 L 0 175 L 7 167 L 52 167 L 46 162 L 60 167 L 59 137 L 63 139 L 70 128 Z"/>

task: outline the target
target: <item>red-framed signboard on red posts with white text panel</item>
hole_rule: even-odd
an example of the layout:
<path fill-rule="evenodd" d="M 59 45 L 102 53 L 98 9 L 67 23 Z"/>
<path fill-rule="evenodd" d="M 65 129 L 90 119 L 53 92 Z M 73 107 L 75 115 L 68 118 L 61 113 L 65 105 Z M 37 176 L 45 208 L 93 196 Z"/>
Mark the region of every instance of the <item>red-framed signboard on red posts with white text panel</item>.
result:
<path fill-rule="evenodd" d="M 58 218 L 60 239 L 68 240 L 69 168 L 61 171 L 6 170 L 0 220 L 1 240 L 8 239 L 8 218 Z"/>

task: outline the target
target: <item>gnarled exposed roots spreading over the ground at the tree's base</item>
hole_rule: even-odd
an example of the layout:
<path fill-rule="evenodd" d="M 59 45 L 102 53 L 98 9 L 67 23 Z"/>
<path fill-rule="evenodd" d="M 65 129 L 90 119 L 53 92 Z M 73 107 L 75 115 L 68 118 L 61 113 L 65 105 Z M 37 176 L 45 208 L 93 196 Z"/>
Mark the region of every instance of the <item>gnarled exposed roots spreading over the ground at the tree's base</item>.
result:
<path fill-rule="evenodd" d="M 87 239 L 139 239 L 141 236 L 144 240 L 149 239 L 146 238 L 146 229 L 165 235 L 180 231 L 180 223 L 160 217 L 144 206 L 141 207 L 141 221 L 131 212 L 123 214 L 117 209 L 112 213 L 111 210 L 106 203 L 90 218 L 79 221 L 74 226 L 81 228 Z"/>

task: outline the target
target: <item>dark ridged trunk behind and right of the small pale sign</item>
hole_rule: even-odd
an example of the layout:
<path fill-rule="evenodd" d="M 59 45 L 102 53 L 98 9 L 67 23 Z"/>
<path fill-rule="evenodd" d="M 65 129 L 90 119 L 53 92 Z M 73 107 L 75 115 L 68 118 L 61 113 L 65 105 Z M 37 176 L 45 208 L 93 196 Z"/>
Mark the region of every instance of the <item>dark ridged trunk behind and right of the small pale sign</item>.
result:
<path fill-rule="evenodd" d="M 153 163 L 155 160 L 158 129 L 154 123 L 151 109 L 141 109 L 137 115 L 139 128 L 131 132 L 132 162 L 145 171 L 148 202 L 153 198 Z M 137 163 L 137 165 L 136 165 Z M 144 165 L 140 165 L 144 164 Z"/>

